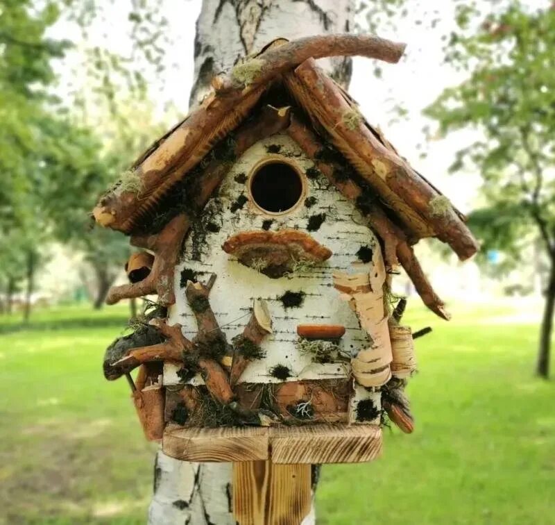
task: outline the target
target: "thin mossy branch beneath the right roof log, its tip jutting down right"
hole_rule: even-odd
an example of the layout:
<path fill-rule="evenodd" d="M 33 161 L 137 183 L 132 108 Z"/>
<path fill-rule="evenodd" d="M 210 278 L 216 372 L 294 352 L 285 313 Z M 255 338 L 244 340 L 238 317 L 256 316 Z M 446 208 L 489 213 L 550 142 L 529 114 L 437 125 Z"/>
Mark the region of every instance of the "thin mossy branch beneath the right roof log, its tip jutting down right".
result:
<path fill-rule="evenodd" d="M 287 133 L 298 142 L 307 156 L 314 160 L 316 167 L 334 184 L 341 194 L 350 201 L 357 203 L 363 194 L 361 187 L 355 181 L 340 180 L 336 174 L 341 172 L 341 167 L 336 163 L 324 163 L 318 160 L 318 153 L 323 151 L 324 146 L 318 141 L 316 135 L 294 116 L 291 117 L 291 125 L 287 129 Z M 392 269 L 400 263 L 425 305 L 439 317 L 450 319 L 450 315 L 445 311 L 445 303 L 434 292 L 402 228 L 388 219 L 382 206 L 377 202 L 372 208 L 365 211 L 370 226 L 384 242 L 386 267 Z"/>

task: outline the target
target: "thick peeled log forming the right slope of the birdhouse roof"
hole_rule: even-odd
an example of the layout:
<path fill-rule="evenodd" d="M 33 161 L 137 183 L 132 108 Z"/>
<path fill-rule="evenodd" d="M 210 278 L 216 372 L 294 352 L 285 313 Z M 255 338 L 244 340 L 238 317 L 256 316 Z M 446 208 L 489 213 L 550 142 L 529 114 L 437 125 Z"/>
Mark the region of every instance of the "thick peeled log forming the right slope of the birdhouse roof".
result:
<path fill-rule="evenodd" d="M 376 192 L 420 237 L 437 236 L 464 260 L 478 249 L 462 215 L 361 117 L 356 104 L 309 59 L 284 74 L 287 88 Z M 441 206 L 436 203 L 441 202 Z"/>

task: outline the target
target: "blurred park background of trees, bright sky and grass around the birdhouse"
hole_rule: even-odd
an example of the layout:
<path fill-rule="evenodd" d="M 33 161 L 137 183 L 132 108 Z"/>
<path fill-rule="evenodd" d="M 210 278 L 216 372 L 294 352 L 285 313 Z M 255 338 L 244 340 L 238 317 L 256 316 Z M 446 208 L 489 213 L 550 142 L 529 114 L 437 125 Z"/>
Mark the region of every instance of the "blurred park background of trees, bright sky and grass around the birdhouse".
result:
<path fill-rule="evenodd" d="M 128 240 L 89 212 L 187 113 L 200 0 L 0 0 L 0 523 L 143 523 L 155 447 L 105 347 L 142 301 L 103 306 Z M 555 524 L 555 4 L 359 2 L 357 31 L 409 44 L 354 60 L 370 122 L 481 240 L 422 265 L 453 315 L 409 298 L 416 431 L 328 466 L 318 522 Z M 551 308 L 551 309 L 550 309 Z"/>

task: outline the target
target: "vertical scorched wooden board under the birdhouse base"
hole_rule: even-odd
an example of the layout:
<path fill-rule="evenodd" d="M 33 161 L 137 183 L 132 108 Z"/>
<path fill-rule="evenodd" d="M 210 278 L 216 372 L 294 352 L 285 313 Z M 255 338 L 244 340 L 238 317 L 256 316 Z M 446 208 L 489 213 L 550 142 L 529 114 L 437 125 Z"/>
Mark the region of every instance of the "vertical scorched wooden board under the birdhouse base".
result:
<path fill-rule="evenodd" d="M 310 465 L 233 464 L 233 515 L 239 525 L 300 524 L 310 512 Z"/>

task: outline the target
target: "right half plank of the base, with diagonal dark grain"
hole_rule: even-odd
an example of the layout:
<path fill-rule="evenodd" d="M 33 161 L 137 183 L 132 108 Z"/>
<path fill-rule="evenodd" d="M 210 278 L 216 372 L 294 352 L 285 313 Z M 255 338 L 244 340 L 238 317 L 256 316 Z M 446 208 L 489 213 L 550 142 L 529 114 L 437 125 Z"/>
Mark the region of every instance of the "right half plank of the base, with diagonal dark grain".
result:
<path fill-rule="evenodd" d="M 355 463 L 382 452 L 377 425 L 321 424 L 270 429 L 274 463 Z"/>

